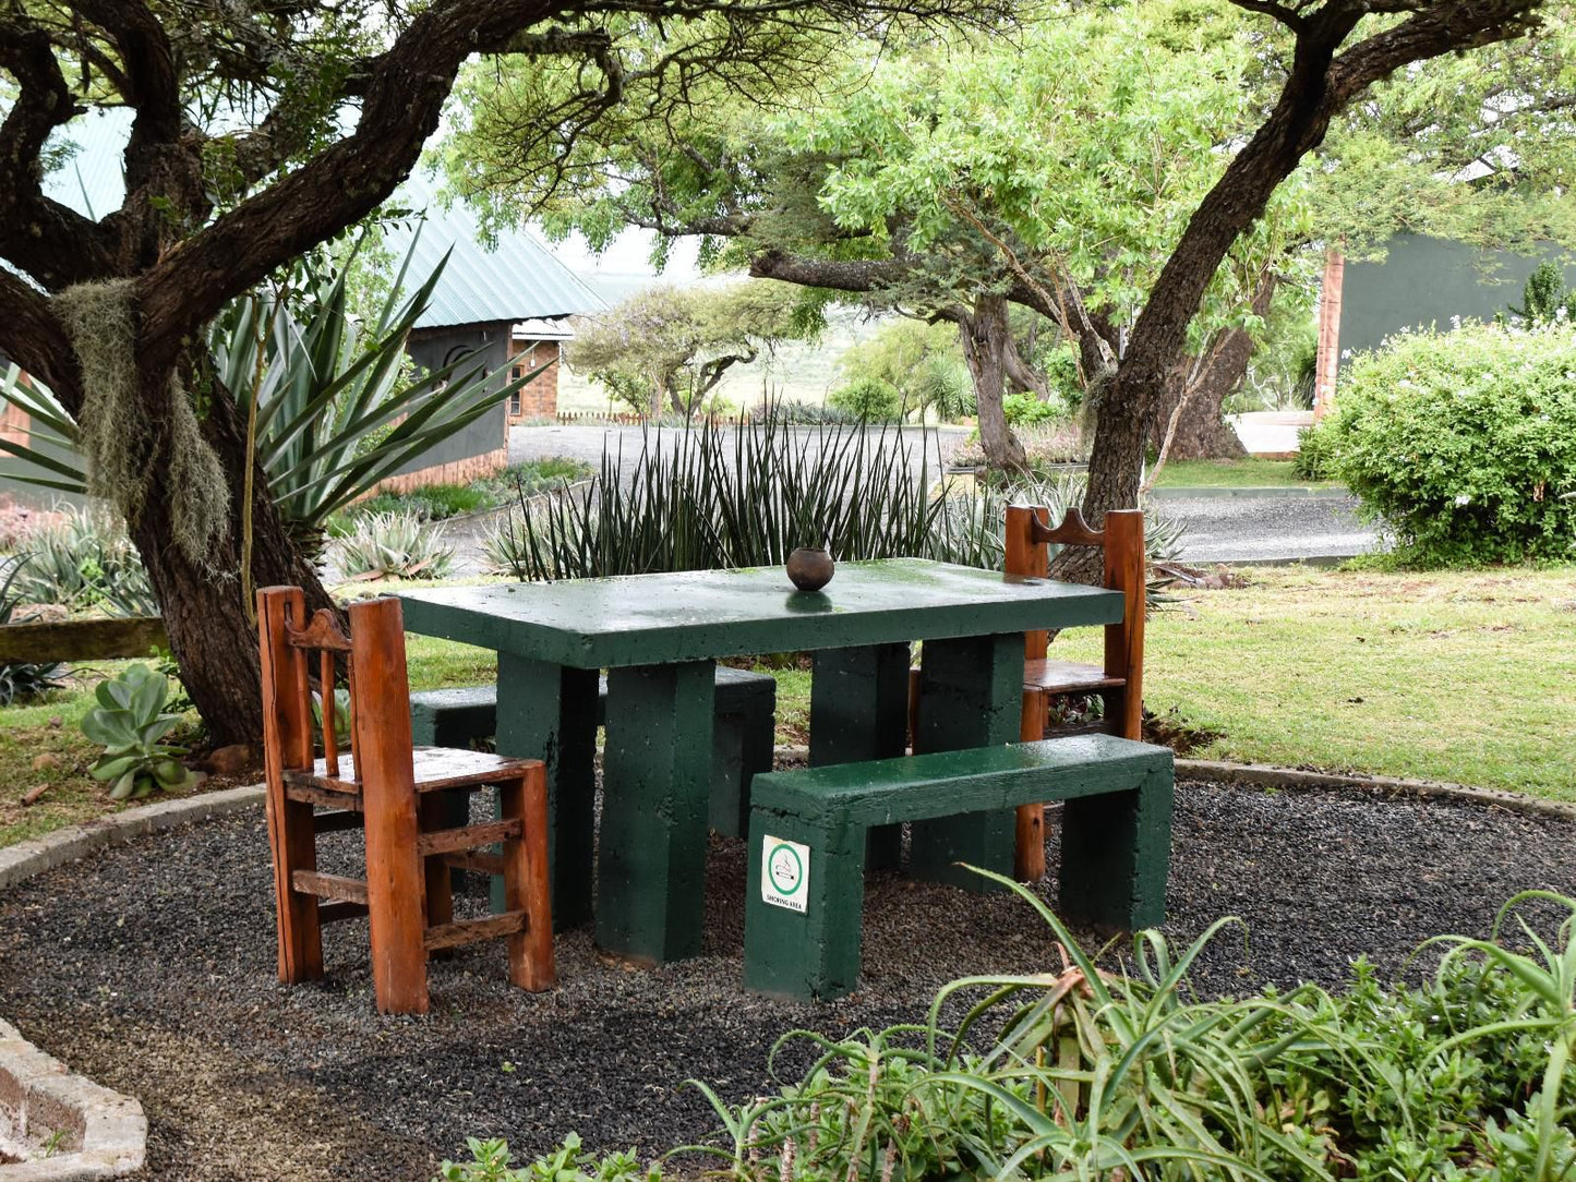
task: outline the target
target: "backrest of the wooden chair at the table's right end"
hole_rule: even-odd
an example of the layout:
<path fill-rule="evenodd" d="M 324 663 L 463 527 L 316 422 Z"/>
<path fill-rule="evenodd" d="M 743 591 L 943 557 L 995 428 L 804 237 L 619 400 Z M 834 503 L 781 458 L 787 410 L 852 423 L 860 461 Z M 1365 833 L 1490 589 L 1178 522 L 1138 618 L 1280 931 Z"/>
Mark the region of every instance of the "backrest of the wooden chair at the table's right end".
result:
<path fill-rule="evenodd" d="M 1092 528 L 1078 506 L 1067 511 L 1061 525 L 1051 526 L 1045 506 L 1007 506 L 1005 555 L 1002 572 L 1045 578 L 1051 545 L 1097 545 L 1103 555 L 1102 585 L 1125 597 L 1122 621 L 1105 629 L 1105 675 L 1122 678 L 1122 716 L 1113 731 L 1136 739 L 1141 733 L 1141 679 L 1144 668 L 1146 561 L 1144 514 L 1139 509 L 1113 509 L 1105 526 Z M 1043 660 L 1050 649 L 1048 632 L 1026 632 L 1024 659 Z"/>

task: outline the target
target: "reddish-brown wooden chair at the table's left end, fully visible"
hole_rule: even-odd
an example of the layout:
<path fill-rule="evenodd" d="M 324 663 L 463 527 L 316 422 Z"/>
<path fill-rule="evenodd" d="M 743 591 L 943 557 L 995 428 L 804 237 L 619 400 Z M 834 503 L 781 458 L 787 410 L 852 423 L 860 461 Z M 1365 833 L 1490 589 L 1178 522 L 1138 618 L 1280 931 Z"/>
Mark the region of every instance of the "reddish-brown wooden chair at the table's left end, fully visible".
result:
<path fill-rule="evenodd" d="M 552 988 L 542 763 L 413 747 L 400 602 L 353 604 L 348 615 L 347 637 L 328 610 L 307 619 L 301 588 L 257 593 L 279 979 L 322 977 L 322 925 L 367 916 L 372 983 L 383 1013 L 424 1013 L 427 955 L 478 939 L 507 938 L 509 980 L 531 991 Z M 345 755 L 334 725 L 340 660 L 350 682 Z M 312 736 L 314 673 L 325 720 L 322 758 Z M 482 786 L 498 790 L 501 820 L 443 827 L 441 790 Z M 364 879 L 318 873 L 317 835 L 339 829 L 364 831 Z M 495 843 L 501 854 L 476 853 Z M 501 873 L 507 909 L 455 922 L 451 865 Z"/>

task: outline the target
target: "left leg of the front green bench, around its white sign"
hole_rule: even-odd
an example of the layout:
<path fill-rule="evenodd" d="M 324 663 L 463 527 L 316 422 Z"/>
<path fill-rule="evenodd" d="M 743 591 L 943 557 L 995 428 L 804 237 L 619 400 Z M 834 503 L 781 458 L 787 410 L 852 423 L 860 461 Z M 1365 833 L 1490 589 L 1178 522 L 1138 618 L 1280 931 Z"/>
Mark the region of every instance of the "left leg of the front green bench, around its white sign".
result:
<path fill-rule="evenodd" d="M 761 898 L 766 838 L 810 846 L 805 909 Z M 827 1001 L 859 983 L 865 903 L 865 831 L 756 808 L 750 815 L 744 905 L 744 988 L 794 1001 Z"/>

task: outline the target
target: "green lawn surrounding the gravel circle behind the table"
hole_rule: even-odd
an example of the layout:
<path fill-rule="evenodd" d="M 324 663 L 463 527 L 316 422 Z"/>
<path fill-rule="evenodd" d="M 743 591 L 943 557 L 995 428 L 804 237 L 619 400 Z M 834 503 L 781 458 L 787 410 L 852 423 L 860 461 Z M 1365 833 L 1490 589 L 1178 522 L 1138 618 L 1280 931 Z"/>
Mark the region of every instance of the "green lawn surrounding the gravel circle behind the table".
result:
<path fill-rule="evenodd" d="M 1576 566 L 1478 572 L 1254 569 L 1149 621 L 1146 704 L 1218 733 L 1202 758 L 1407 775 L 1576 801 Z M 492 580 L 457 580 L 481 583 Z M 378 585 L 378 591 L 399 585 Z M 366 586 L 358 586 L 366 591 Z M 1095 629 L 1056 656 L 1098 660 Z M 495 679 L 496 657 L 407 637 L 411 689 Z M 79 730 L 93 681 L 0 709 L 0 845 L 112 812 Z M 777 741 L 808 733 L 810 673 L 777 678 Z M 55 722 L 58 719 L 58 723 Z M 33 769 L 39 755 L 58 766 Z M 43 801 L 20 797 L 49 783 Z"/>

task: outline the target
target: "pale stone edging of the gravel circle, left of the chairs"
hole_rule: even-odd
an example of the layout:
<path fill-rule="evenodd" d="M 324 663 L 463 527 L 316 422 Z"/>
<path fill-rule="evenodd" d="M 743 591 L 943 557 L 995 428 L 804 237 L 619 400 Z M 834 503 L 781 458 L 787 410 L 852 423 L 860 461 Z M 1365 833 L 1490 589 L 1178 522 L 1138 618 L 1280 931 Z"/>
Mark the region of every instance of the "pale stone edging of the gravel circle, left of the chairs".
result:
<path fill-rule="evenodd" d="M 132 837 L 252 808 L 262 785 L 159 801 L 113 816 L 72 824 L 0 849 L 0 889 L 85 857 Z M 33 1046 L 0 1020 L 0 1110 L 3 1132 L 22 1144 L 65 1135 L 65 1152 L 0 1165 L 0 1182 L 87 1182 L 140 1169 L 148 1150 L 148 1117 L 129 1095 L 72 1075 L 60 1059 Z"/>

